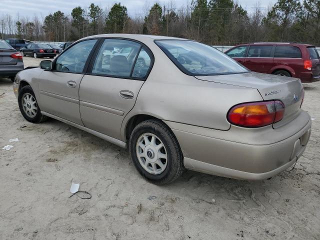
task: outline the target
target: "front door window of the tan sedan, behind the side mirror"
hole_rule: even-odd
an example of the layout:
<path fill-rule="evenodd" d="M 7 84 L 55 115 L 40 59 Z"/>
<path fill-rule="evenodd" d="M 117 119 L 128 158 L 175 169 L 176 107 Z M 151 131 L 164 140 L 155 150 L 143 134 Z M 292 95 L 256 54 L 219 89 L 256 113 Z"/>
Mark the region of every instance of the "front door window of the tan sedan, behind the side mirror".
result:
<path fill-rule="evenodd" d="M 54 70 L 81 73 L 97 39 L 80 41 L 63 51 L 57 58 Z"/>

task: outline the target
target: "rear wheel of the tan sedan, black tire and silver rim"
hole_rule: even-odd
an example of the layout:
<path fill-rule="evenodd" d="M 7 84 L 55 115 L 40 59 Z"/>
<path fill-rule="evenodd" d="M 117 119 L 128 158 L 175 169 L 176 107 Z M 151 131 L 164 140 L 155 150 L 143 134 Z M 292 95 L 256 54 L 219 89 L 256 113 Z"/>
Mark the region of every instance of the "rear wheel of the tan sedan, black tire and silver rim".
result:
<path fill-rule="evenodd" d="M 129 139 L 129 151 L 138 172 L 154 184 L 170 183 L 184 170 L 178 142 L 160 120 L 137 124 Z"/>

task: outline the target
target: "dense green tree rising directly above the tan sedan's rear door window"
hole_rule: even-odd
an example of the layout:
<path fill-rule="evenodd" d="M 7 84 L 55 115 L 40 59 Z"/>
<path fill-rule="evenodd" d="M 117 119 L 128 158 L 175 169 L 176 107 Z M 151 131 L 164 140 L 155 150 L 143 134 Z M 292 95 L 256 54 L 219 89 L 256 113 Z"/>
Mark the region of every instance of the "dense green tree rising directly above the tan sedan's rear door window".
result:
<path fill-rule="evenodd" d="M 106 19 L 105 19 L 105 30 L 108 33 L 120 33 L 124 32 L 125 23 L 128 20 L 127 9 L 121 3 L 115 3 Z"/>

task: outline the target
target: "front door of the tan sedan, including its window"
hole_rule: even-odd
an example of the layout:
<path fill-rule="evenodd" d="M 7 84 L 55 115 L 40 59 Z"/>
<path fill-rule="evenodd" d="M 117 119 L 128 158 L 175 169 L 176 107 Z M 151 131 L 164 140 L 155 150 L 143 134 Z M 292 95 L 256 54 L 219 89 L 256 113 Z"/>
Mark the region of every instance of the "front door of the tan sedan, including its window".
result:
<path fill-rule="evenodd" d="M 80 41 L 56 59 L 51 71 L 39 79 L 41 110 L 82 124 L 79 112 L 79 85 L 84 66 L 97 39 Z"/>

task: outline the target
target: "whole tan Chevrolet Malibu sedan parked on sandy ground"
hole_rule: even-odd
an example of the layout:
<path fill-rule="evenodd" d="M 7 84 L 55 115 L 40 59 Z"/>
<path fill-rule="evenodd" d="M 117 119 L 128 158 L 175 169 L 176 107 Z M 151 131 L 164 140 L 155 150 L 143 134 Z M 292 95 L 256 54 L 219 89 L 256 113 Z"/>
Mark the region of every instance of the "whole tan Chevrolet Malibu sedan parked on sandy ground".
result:
<path fill-rule="evenodd" d="M 126 56 L 104 59 L 123 48 Z M 149 58 L 143 64 L 141 55 Z M 52 117 L 127 147 L 156 184 L 185 168 L 269 178 L 297 161 L 310 136 L 299 79 L 251 72 L 181 38 L 85 37 L 52 62 L 19 72 L 13 89 L 28 121 Z"/>

